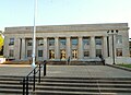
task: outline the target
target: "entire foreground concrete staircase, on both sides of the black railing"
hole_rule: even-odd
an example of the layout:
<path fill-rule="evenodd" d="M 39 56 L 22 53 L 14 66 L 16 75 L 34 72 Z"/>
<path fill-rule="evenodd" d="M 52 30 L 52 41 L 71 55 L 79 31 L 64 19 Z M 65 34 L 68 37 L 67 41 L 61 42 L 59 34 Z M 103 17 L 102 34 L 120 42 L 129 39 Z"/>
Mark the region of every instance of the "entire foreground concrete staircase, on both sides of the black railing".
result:
<path fill-rule="evenodd" d="M 0 95 L 22 95 L 22 76 L 0 76 Z M 131 95 L 128 78 L 41 78 L 29 95 Z"/>

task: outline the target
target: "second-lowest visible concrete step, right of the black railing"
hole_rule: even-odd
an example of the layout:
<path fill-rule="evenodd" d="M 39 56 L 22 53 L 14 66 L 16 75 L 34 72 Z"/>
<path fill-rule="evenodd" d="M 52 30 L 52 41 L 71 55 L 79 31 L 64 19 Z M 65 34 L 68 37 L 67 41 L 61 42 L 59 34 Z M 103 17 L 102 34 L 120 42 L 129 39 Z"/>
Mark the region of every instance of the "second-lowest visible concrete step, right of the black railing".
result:
<path fill-rule="evenodd" d="M 71 86 L 37 86 L 36 90 L 41 90 L 41 91 L 45 91 L 45 90 L 50 90 L 50 91 L 71 91 L 71 92 L 130 92 L 131 93 L 131 88 L 128 87 L 128 88 L 117 88 L 117 87 L 71 87 Z"/>

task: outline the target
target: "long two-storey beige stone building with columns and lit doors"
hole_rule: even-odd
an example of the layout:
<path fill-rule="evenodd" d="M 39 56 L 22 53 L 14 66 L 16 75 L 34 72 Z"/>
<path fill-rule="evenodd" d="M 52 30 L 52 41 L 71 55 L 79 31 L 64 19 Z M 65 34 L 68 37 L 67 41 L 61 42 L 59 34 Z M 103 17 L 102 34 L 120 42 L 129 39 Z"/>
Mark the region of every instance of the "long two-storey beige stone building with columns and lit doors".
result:
<path fill-rule="evenodd" d="M 5 27 L 4 57 L 29 60 L 33 26 Z M 37 26 L 36 60 L 129 62 L 128 23 Z"/>

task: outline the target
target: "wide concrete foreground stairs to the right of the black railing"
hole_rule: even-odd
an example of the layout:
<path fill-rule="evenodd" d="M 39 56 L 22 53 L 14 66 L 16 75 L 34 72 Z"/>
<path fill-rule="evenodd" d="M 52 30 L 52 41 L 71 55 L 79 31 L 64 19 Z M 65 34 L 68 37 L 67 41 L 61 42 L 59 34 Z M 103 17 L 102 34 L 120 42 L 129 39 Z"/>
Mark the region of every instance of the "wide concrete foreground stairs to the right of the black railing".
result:
<path fill-rule="evenodd" d="M 33 95 L 131 95 L 131 79 L 43 78 Z M 124 95 L 121 94 L 121 95 Z"/>

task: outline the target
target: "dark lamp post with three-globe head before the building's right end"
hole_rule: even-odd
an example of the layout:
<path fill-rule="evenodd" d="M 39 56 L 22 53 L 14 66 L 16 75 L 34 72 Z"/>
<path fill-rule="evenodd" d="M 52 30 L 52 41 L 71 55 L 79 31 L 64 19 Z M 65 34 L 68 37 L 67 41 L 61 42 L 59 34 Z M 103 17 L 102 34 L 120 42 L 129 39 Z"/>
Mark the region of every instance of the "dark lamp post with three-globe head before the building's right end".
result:
<path fill-rule="evenodd" d="M 112 49 L 112 64 L 116 64 L 115 63 L 115 35 L 118 34 L 118 29 L 116 29 L 116 31 L 114 31 L 114 29 L 108 31 L 107 34 L 110 35 L 111 38 L 112 38 L 112 48 L 111 48 Z"/>

